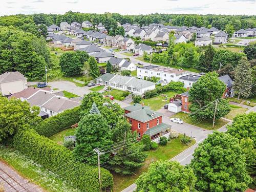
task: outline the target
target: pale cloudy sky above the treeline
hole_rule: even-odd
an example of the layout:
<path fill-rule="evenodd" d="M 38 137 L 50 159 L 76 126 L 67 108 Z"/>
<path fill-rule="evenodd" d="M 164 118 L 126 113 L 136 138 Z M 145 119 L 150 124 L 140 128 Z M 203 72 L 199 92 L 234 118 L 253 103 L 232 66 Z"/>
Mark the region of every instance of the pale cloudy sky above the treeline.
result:
<path fill-rule="evenodd" d="M 1 0 L 0 15 L 55 13 L 256 15 L 256 0 Z"/>

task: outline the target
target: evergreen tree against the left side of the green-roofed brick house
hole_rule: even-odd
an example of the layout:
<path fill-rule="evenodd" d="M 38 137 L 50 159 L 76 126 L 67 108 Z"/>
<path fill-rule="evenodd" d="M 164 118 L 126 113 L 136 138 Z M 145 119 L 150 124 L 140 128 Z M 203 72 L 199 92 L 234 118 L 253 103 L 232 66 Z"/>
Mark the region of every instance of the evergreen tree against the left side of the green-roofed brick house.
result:
<path fill-rule="evenodd" d="M 116 155 L 109 164 L 114 167 L 116 173 L 132 175 L 136 168 L 143 165 L 146 158 L 143 152 L 144 144 L 137 141 L 137 132 L 132 132 L 131 124 L 126 119 L 118 121 L 113 136 L 114 143 L 118 142 L 119 146 L 113 148 Z M 123 142 L 121 146 L 120 142 Z"/>

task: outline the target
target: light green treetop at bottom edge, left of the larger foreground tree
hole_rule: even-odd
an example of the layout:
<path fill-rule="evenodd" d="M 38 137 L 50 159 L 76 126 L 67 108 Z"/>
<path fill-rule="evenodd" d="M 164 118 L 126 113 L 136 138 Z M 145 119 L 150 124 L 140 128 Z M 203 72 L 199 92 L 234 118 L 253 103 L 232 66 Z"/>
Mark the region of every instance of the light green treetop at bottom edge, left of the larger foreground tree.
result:
<path fill-rule="evenodd" d="M 136 180 L 136 191 L 190 192 L 195 191 L 196 180 L 193 169 L 184 167 L 177 161 L 159 160 L 152 163 L 147 172 Z"/>

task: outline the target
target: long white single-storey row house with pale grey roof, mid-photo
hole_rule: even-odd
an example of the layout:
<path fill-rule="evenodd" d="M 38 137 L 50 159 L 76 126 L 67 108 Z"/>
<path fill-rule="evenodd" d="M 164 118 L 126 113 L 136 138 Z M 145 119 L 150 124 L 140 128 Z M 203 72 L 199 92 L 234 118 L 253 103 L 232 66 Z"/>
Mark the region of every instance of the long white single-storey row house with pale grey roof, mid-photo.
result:
<path fill-rule="evenodd" d="M 130 91 L 137 95 L 143 95 L 145 91 L 156 88 L 156 84 L 151 81 L 110 73 L 105 73 L 97 77 L 96 80 L 97 84 L 110 86 L 113 89 L 121 91 Z"/>

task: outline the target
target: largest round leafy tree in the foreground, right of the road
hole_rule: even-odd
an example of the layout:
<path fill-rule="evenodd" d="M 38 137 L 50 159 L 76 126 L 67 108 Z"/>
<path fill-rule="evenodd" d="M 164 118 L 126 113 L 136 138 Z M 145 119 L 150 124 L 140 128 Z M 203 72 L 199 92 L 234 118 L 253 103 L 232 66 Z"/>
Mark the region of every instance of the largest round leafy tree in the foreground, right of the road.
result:
<path fill-rule="evenodd" d="M 199 191 L 244 191 L 251 182 L 239 140 L 214 132 L 196 148 L 190 166 Z"/>

